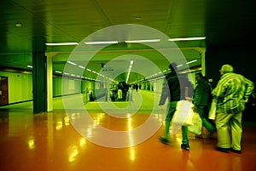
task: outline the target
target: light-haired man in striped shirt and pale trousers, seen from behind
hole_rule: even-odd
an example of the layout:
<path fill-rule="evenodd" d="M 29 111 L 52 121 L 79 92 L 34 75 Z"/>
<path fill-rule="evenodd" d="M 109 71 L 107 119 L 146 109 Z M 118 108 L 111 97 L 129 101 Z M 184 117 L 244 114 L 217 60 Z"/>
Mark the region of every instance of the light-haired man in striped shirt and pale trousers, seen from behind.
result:
<path fill-rule="evenodd" d="M 246 77 L 234 73 L 230 65 L 222 66 L 220 75 L 216 88 L 212 90 L 213 98 L 217 100 L 218 143 L 215 150 L 241 154 L 242 111 L 249 95 L 253 93 L 254 85 Z"/>

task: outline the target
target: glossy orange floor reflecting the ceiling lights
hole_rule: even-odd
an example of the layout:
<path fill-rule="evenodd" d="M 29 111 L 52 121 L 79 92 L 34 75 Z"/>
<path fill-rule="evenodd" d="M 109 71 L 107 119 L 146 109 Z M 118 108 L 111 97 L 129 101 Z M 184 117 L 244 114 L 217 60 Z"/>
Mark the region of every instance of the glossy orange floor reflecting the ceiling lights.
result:
<path fill-rule="evenodd" d="M 256 127 L 244 127 L 242 154 L 238 155 L 214 151 L 216 140 L 197 139 L 193 134 L 189 134 L 190 151 L 183 151 L 180 132 L 172 137 L 171 145 L 163 145 L 158 140 L 162 127 L 141 144 L 131 147 L 97 145 L 73 128 L 63 110 L 36 115 L 26 110 L 5 110 L 0 116 L 0 170 L 3 171 L 256 170 Z M 148 116 L 137 114 L 129 120 L 104 113 L 90 114 L 96 124 L 113 131 L 139 127 Z M 162 122 L 161 118 L 157 122 Z M 90 137 L 94 136 L 101 134 L 92 131 Z M 112 143 L 111 140 L 109 137 L 106 141 Z"/>

